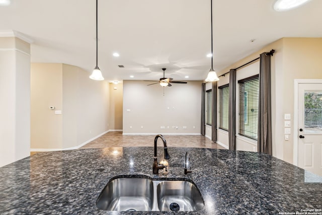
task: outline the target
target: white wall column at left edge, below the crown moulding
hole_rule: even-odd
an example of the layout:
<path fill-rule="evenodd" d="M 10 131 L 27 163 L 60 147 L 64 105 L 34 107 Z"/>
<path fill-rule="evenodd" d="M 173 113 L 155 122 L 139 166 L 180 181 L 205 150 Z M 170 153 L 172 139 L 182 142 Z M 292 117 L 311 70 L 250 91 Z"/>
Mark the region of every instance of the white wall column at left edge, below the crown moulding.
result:
<path fill-rule="evenodd" d="M 30 44 L 0 38 L 0 167 L 29 156 Z"/>

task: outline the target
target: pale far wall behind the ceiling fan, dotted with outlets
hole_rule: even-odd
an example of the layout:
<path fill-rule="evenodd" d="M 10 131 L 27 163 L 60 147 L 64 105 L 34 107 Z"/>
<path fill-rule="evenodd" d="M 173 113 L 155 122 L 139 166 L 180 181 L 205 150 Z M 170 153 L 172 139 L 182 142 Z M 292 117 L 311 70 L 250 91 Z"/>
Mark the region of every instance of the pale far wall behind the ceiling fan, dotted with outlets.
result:
<path fill-rule="evenodd" d="M 123 133 L 200 134 L 201 84 L 190 81 L 164 89 L 143 81 L 123 81 Z"/>

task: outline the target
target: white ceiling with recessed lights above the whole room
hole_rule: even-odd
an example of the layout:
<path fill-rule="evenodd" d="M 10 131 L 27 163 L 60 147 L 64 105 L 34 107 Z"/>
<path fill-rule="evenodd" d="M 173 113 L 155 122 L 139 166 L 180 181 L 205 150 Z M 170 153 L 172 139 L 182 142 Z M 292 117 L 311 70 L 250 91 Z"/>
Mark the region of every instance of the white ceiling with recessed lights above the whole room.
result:
<path fill-rule="evenodd" d="M 0 6 L 0 32 L 15 30 L 32 38 L 32 62 L 72 64 L 90 75 L 96 64 L 95 0 L 11 1 Z M 98 2 L 99 67 L 106 80 L 158 80 L 163 67 L 174 80 L 206 78 L 210 0 Z M 215 70 L 282 37 L 322 37 L 321 0 L 288 12 L 275 12 L 273 3 L 213 0 Z"/>

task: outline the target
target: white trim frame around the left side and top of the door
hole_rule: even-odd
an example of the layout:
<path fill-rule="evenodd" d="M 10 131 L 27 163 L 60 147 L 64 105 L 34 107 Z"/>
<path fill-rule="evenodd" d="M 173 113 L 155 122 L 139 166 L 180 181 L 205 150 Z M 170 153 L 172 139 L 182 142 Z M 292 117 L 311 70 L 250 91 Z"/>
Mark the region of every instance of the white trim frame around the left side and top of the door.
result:
<path fill-rule="evenodd" d="M 322 79 L 294 79 L 293 165 L 298 166 L 298 85 L 322 84 Z"/>

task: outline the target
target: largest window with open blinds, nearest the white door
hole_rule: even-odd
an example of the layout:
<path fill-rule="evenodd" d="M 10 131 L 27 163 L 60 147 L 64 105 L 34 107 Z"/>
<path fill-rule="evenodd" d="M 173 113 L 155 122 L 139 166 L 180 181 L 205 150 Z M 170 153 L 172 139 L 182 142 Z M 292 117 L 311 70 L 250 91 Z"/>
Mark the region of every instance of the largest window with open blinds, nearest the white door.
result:
<path fill-rule="evenodd" d="M 258 75 L 239 80 L 238 134 L 257 140 L 258 130 Z"/>

